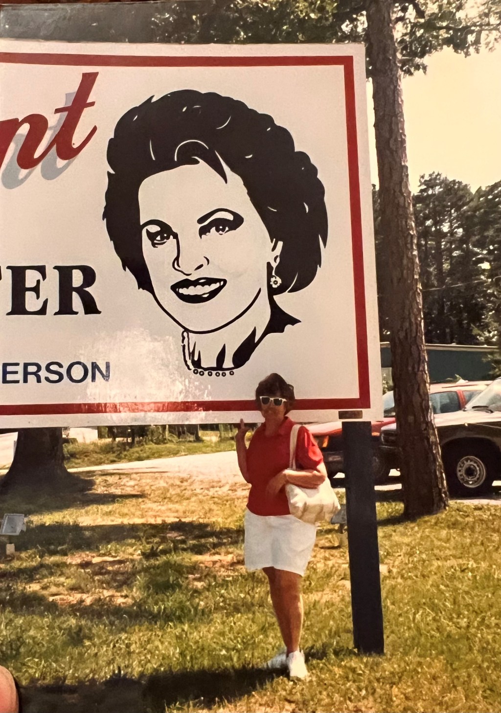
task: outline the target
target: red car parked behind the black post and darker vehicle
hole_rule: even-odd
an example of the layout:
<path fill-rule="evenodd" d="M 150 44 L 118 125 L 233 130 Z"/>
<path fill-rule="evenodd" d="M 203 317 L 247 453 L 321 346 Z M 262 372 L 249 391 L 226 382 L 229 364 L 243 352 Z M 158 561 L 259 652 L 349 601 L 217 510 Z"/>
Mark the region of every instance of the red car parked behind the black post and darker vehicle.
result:
<path fill-rule="evenodd" d="M 431 384 L 430 401 L 434 414 L 445 414 L 450 411 L 460 411 L 468 401 L 480 393 L 490 381 L 456 381 L 455 384 Z M 393 461 L 383 456 L 379 447 L 379 435 L 383 426 L 395 423 L 395 399 L 393 391 L 387 391 L 383 396 L 383 419 L 373 421 L 372 425 L 372 467 L 374 482 L 383 483 L 391 468 L 398 467 Z M 341 421 L 331 421 L 328 424 L 311 424 L 308 426 L 315 436 L 324 454 L 329 480 L 342 473 L 344 468 L 343 439 L 341 434 Z"/>

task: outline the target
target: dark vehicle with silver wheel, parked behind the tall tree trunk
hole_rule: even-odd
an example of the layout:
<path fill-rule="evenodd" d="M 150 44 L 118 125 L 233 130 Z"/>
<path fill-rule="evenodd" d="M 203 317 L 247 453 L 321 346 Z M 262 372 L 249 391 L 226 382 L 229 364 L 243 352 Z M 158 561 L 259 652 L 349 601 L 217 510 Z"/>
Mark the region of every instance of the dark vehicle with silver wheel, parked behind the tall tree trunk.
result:
<path fill-rule="evenodd" d="M 386 465 L 400 467 L 397 424 L 381 429 L 380 451 Z M 435 416 L 448 488 L 455 495 L 486 493 L 501 476 L 501 379 L 463 408 Z"/>

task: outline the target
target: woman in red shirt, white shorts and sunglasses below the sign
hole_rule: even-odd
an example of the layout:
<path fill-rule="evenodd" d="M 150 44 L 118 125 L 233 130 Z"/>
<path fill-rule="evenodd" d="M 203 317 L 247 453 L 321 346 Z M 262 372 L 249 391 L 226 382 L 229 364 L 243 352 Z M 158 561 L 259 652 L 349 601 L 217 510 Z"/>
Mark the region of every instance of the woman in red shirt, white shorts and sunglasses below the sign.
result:
<path fill-rule="evenodd" d="M 270 374 L 259 382 L 256 401 L 264 424 L 252 436 L 249 448 L 245 446 L 249 429 L 243 421 L 236 436 L 239 468 L 251 485 L 245 513 L 245 565 L 248 570 L 262 569 L 267 575 L 285 645 L 265 667 L 286 668 L 291 678 L 304 678 L 307 670 L 299 649 L 303 625 L 301 578 L 315 543 L 316 525 L 290 514 L 285 485 L 316 488 L 327 473 L 319 447 L 304 427 L 297 437 L 297 469 L 289 468 L 294 421 L 286 414 L 294 406 L 294 387 L 279 374 Z"/>

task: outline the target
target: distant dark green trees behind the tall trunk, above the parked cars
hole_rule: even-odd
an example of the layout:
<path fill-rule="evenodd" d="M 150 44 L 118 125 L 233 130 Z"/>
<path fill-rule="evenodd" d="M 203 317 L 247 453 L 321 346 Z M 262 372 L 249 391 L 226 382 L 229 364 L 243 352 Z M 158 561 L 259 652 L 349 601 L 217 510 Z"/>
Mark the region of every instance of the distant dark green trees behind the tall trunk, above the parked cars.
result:
<path fill-rule="evenodd" d="M 492 344 L 501 334 L 501 181 L 472 193 L 440 173 L 413 196 L 428 344 Z M 387 258 L 373 189 L 381 339 L 388 339 Z M 496 358 L 495 358 L 496 362 Z M 497 364 L 497 362 L 496 362 Z M 493 366 L 497 374 L 497 366 Z"/>

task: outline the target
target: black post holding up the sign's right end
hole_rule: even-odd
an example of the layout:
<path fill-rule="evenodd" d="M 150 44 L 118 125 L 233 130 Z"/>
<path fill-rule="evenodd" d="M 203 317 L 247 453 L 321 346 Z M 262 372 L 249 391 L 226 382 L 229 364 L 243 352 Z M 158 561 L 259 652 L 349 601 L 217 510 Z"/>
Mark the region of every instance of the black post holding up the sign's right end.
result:
<path fill-rule="evenodd" d="M 363 654 L 383 654 L 378 521 L 368 421 L 343 422 L 343 451 L 353 642 Z"/>

